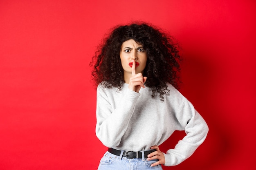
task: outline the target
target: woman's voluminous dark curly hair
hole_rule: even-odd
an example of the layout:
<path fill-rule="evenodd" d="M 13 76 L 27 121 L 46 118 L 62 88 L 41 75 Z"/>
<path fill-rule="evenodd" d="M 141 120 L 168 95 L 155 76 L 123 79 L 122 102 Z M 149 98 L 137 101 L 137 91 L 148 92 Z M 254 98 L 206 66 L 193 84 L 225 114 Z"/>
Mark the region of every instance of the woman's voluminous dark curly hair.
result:
<path fill-rule="evenodd" d="M 93 66 L 92 79 L 95 85 L 101 83 L 104 88 L 114 86 L 121 89 L 124 71 L 119 54 L 123 42 L 130 39 L 142 44 L 147 53 L 143 75 L 147 77 L 145 86 L 152 91 L 153 99 L 158 93 L 163 100 L 164 94 L 169 95 L 167 82 L 178 88 L 181 57 L 173 37 L 144 22 L 116 26 L 103 39 L 90 63 Z"/>

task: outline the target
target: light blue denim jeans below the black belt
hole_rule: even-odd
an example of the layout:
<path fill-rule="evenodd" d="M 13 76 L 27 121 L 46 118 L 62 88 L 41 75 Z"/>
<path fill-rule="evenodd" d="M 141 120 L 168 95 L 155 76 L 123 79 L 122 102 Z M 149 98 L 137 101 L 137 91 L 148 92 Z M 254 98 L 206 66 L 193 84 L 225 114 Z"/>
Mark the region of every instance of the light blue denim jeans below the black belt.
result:
<path fill-rule="evenodd" d="M 123 155 L 123 152 L 121 152 Z M 144 157 L 144 152 L 142 152 Z M 150 166 L 157 162 L 158 159 L 147 161 L 146 159 L 128 159 L 126 157 L 113 155 L 106 152 L 101 158 L 98 170 L 162 170 L 161 165 Z"/>

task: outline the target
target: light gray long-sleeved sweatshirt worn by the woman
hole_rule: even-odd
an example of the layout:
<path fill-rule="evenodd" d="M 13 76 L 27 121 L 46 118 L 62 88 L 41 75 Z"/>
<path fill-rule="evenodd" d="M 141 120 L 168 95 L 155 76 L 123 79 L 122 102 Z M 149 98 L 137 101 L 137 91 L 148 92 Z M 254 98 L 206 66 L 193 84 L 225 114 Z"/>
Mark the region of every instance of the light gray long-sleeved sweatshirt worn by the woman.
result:
<path fill-rule="evenodd" d="M 149 150 L 161 145 L 175 130 L 186 136 L 165 156 L 165 166 L 174 166 L 198 148 L 207 136 L 208 126 L 193 105 L 171 84 L 164 102 L 151 98 L 149 88 L 139 93 L 123 84 L 117 88 L 97 88 L 96 135 L 103 145 L 119 150 Z"/>

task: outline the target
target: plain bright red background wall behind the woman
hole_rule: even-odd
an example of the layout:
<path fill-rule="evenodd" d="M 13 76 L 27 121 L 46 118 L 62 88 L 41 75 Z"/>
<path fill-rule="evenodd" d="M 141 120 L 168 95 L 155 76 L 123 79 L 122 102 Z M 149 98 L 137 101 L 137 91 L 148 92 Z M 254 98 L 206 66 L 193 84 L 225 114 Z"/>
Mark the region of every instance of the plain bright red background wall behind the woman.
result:
<path fill-rule="evenodd" d="M 132 20 L 179 40 L 180 91 L 210 129 L 194 155 L 164 170 L 256 169 L 254 0 L 1 0 L 0 170 L 97 169 L 106 148 L 89 63 L 103 35 Z"/>

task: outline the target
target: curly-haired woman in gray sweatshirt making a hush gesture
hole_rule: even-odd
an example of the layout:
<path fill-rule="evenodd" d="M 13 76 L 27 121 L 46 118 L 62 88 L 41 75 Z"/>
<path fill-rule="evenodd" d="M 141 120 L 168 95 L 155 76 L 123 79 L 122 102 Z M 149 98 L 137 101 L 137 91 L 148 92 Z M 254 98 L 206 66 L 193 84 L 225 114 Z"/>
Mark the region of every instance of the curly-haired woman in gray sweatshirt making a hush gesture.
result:
<path fill-rule="evenodd" d="M 176 90 L 180 55 L 171 37 L 145 23 L 118 26 L 94 57 L 96 135 L 109 149 L 98 170 L 159 169 L 190 157 L 208 126 Z M 186 136 L 159 150 L 175 130 Z"/>

